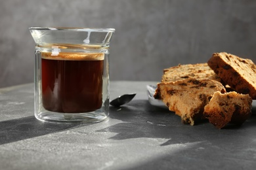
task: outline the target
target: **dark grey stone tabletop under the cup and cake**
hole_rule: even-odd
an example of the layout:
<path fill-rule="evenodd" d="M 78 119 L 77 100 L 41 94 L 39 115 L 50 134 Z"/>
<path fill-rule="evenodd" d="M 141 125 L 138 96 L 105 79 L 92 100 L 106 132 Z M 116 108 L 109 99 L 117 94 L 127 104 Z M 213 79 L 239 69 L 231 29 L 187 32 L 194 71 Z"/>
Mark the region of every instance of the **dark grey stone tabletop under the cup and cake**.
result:
<path fill-rule="evenodd" d="M 33 84 L 0 90 L 0 169 L 255 169 L 256 115 L 242 126 L 184 125 L 150 105 L 146 84 L 111 82 L 110 107 L 97 124 L 49 124 L 33 116 Z M 253 108 L 256 113 L 256 109 Z"/>

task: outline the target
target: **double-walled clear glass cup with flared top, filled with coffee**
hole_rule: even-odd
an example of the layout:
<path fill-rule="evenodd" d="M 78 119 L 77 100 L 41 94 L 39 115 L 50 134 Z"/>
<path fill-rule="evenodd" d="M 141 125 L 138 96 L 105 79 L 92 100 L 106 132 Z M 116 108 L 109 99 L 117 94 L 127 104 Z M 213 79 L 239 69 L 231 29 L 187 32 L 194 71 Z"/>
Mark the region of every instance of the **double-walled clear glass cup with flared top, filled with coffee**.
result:
<path fill-rule="evenodd" d="M 109 114 L 109 48 L 115 29 L 30 27 L 35 41 L 35 117 L 100 122 Z"/>

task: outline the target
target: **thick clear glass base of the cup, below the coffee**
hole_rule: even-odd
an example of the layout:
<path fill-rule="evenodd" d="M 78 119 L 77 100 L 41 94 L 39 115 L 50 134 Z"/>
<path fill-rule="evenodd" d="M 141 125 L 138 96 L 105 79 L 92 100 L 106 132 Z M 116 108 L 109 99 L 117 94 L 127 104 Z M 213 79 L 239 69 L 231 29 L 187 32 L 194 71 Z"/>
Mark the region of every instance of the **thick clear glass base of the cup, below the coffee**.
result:
<path fill-rule="evenodd" d="M 108 115 L 102 110 L 85 113 L 62 113 L 62 112 L 40 112 L 35 114 L 35 118 L 43 122 L 60 124 L 83 124 L 101 122 L 108 118 Z"/>

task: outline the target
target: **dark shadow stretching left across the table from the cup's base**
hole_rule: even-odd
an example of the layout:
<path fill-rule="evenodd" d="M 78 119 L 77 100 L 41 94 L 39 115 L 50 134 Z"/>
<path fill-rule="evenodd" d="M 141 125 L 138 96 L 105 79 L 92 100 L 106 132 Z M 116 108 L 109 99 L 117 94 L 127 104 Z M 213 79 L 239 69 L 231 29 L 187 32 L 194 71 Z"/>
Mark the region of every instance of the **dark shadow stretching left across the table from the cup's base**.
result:
<path fill-rule="evenodd" d="M 41 122 L 35 116 L 0 122 L 0 144 L 64 131 L 81 124 L 51 124 Z"/>

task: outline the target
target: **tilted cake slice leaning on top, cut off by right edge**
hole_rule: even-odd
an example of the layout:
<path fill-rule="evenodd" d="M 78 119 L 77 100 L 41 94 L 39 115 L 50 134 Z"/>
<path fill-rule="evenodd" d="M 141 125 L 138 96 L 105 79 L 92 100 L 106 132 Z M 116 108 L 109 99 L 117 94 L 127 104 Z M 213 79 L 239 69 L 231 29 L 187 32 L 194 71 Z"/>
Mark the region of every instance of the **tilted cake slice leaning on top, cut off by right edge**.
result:
<path fill-rule="evenodd" d="M 256 99 L 256 65 L 251 59 L 221 52 L 214 53 L 207 63 L 225 84 Z"/>

